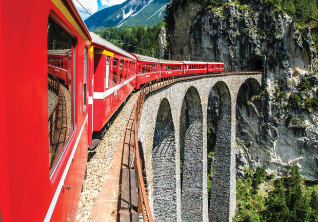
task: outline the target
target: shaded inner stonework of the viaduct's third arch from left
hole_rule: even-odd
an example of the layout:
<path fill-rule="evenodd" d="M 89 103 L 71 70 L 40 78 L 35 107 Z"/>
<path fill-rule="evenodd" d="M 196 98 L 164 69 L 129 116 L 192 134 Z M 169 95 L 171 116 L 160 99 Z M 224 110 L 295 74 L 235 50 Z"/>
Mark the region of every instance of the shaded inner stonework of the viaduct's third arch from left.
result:
<path fill-rule="evenodd" d="M 207 113 L 207 118 L 211 116 L 210 113 L 217 118 L 217 121 L 214 119 L 213 123 L 216 125 L 216 141 L 209 221 L 225 221 L 225 219 L 231 220 L 230 208 L 233 202 L 231 199 L 233 169 L 231 168 L 235 165 L 233 166 L 232 163 L 232 102 L 230 90 L 225 82 L 220 81 L 213 86 L 209 100 L 213 98 L 216 91 L 218 94 L 216 96 L 219 98 L 218 112 L 213 114 L 213 110 L 210 109 Z M 214 95 L 214 97 L 216 96 Z M 209 124 L 211 123 L 207 122 L 207 126 Z"/>

